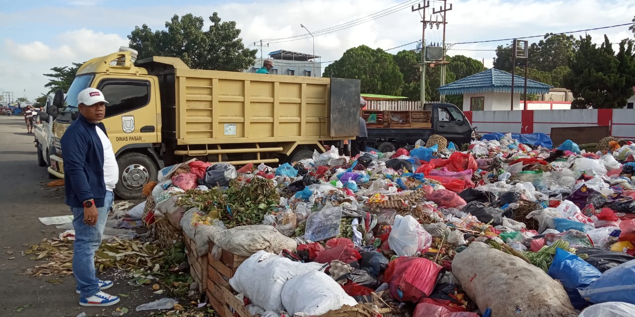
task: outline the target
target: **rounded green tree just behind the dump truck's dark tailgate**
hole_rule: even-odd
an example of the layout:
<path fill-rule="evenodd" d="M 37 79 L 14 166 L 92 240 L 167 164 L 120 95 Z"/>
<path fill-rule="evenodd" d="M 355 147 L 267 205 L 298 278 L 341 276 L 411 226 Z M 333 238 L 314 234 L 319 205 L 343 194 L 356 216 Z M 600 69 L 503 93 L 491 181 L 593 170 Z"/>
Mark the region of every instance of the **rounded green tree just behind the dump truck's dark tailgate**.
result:
<path fill-rule="evenodd" d="M 359 79 L 362 93 L 399 96 L 403 75 L 391 54 L 366 45 L 350 48 L 324 68 L 324 77 Z"/>

